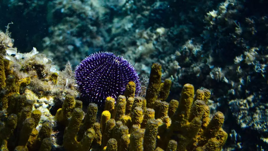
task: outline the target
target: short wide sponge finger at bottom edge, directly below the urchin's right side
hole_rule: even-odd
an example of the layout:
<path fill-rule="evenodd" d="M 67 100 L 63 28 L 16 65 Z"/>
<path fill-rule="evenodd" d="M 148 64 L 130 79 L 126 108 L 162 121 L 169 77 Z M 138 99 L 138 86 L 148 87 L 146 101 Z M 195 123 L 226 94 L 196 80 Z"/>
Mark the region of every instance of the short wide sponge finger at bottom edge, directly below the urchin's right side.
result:
<path fill-rule="evenodd" d="M 130 134 L 129 151 L 143 151 L 143 134 L 140 131 L 134 131 Z"/>

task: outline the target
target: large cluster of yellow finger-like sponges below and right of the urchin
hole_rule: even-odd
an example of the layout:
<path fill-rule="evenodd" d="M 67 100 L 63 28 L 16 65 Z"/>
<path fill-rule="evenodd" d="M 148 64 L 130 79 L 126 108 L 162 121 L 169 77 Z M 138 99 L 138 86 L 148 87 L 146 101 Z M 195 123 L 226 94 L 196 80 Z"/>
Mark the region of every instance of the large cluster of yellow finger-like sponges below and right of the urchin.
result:
<path fill-rule="evenodd" d="M 159 94 L 168 92 L 170 84 L 161 83 L 161 72 L 155 71 L 161 71 L 160 64 L 152 65 L 150 76 L 152 84 L 159 84 L 148 85 L 148 89 L 158 91 L 153 93 L 154 102 L 147 103 L 139 96 L 126 99 L 120 95 L 116 101 L 107 97 L 100 123 L 96 122 L 96 104 L 88 106 L 85 116 L 79 107 L 72 108 L 74 98 L 69 106 L 64 105 L 65 110 L 73 110 L 63 135 L 65 150 L 221 150 L 228 135 L 221 128 L 223 113 L 217 112 L 210 119 L 210 91 L 198 89 L 194 94 L 193 85 L 185 84 L 179 103 L 173 100 L 169 104 L 159 100 L 163 98 Z M 125 94 L 135 94 L 132 85 L 129 82 Z M 126 112 L 126 108 L 130 111 Z"/>

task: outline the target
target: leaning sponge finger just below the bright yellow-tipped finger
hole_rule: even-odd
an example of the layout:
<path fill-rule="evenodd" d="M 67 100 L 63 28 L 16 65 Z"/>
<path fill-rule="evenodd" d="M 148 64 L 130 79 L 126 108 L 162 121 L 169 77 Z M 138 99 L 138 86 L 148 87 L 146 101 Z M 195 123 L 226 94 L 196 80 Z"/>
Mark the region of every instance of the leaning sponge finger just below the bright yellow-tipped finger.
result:
<path fill-rule="evenodd" d="M 102 135 L 102 148 L 107 146 L 107 142 L 110 138 L 112 138 L 113 135 L 113 128 L 116 125 L 116 121 L 114 119 L 110 119 L 107 121 L 105 126 L 105 131 Z"/>

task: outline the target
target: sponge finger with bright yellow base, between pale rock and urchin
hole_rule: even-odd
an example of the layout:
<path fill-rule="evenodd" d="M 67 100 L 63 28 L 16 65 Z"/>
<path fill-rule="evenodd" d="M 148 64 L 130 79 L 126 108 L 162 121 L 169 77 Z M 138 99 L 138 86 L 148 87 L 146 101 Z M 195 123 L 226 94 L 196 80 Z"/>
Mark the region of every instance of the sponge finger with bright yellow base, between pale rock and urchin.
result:
<path fill-rule="evenodd" d="M 62 105 L 62 109 L 58 109 L 55 115 L 57 122 L 62 125 L 68 125 L 68 119 L 71 117 L 75 108 L 75 98 L 72 95 L 67 95 Z"/>

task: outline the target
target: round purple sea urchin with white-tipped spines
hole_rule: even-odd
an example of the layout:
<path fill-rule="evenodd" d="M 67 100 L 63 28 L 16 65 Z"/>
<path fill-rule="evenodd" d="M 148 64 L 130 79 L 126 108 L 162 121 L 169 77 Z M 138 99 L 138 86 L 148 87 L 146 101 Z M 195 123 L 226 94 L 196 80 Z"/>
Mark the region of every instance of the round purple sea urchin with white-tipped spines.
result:
<path fill-rule="evenodd" d="M 136 69 L 124 57 L 111 52 L 98 52 L 86 57 L 76 67 L 75 78 L 81 97 L 99 106 L 108 96 L 116 100 L 130 81 L 136 84 L 136 94 L 140 91 Z"/>

